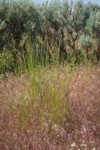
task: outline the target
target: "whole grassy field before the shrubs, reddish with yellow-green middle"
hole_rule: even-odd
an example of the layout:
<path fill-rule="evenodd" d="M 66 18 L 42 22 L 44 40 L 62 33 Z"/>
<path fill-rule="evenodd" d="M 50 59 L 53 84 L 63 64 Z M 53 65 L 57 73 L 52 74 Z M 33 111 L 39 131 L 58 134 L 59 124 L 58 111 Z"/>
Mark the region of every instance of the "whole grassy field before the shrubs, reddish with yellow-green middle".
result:
<path fill-rule="evenodd" d="M 0 150 L 100 150 L 100 67 L 66 70 L 40 73 L 43 79 L 37 78 L 33 97 L 28 74 L 0 79 Z M 67 101 L 66 107 L 55 101 L 59 114 L 49 110 L 52 84 L 62 93 L 60 103 Z M 42 102 L 37 103 L 38 99 Z"/>

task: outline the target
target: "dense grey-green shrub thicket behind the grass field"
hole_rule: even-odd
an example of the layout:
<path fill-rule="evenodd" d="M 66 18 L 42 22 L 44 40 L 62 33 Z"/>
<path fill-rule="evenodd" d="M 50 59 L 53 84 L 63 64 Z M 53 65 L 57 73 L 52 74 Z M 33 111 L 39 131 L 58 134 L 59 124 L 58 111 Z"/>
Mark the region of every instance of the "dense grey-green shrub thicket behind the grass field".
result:
<path fill-rule="evenodd" d="M 37 62 L 100 60 L 100 6 L 82 0 L 0 1 L 0 53 L 23 62 L 32 50 Z M 43 58 L 43 59 L 42 59 Z"/>

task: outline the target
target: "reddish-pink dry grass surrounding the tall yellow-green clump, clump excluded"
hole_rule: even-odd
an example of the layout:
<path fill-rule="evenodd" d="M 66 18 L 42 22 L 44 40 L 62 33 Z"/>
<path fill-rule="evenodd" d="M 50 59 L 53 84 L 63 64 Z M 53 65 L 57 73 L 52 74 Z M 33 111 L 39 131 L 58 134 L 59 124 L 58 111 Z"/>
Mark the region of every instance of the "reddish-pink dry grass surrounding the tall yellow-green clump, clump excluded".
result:
<path fill-rule="evenodd" d="M 80 67 L 75 72 L 67 98 L 70 117 L 50 130 L 45 125 L 44 132 L 34 112 L 25 128 L 18 121 L 20 106 L 16 97 L 23 93 L 28 100 L 29 76 L 0 80 L 0 150 L 100 149 L 100 68 Z M 64 86 L 64 91 L 67 88 Z"/>

